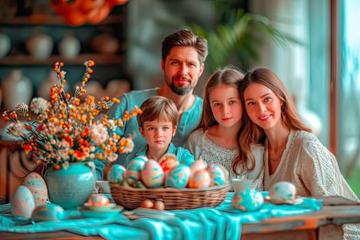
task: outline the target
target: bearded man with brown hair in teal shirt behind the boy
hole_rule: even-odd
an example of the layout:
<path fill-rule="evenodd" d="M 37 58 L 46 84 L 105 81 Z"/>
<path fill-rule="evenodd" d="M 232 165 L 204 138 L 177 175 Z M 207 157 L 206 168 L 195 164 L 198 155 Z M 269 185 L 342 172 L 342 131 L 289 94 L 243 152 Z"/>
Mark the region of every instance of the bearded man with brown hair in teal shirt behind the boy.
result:
<path fill-rule="evenodd" d="M 207 40 L 196 36 L 188 29 L 181 29 L 163 40 L 161 70 L 165 76 L 164 86 L 124 93 L 120 104 L 115 104 L 108 111 L 109 119 L 119 119 L 125 110 L 141 106 L 149 97 L 160 95 L 172 99 L 180 113 L 178 130 L 173 137 L 173 144 L 182 146 L 190 132 L 196 128 L 202 112 L 202 99 L 193 94 L 193 89 L 204 71 L 204 62 L 208 55 Z M 139 132 L 136 117 L 124 122 L 117 133 L 128 137 L 135 135 L 134 150 L 139 151 L 145 139 Z M 118 164 L 123 165 L 128 154 L 119 154 Z"/>

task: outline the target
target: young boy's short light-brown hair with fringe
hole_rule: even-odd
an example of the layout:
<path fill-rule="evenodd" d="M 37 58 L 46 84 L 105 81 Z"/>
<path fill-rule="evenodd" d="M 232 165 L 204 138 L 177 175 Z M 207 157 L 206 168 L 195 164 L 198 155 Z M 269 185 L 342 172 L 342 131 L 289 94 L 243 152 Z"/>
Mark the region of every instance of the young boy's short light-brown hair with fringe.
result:
<path fill-rule="evenodd" d="M 156 119 L 171 121 L 173 126 L 178 125 L 179 112 L 172 99 L 162 96 L 150 97 L 141 104 L 140 108 L 143 113 L 137 115 L 136 118 L 141 128 L 143 128 L 145 121 Z"/>

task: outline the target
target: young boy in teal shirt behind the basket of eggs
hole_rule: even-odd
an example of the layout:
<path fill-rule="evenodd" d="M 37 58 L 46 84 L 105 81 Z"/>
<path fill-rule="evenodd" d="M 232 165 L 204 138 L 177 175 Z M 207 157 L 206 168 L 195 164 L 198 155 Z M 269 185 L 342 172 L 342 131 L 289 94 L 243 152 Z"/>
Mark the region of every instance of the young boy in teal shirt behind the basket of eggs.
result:
<path fill-rule="evenodd" d="M 176 133 L 179 112 L 173 100 L 166 97 L 150 97 L 141 104 L 143 113 L 137 115 L 139 132 L 145 137 L 146 145 L 139 152 L 130 154 L 125 161 L 125 167 L 136 156 L 146 156 L 148 159 L 160 160 L 165 154 L 175 154 L 179 163 L 191 165 L 194 156 L 182 147 L 171 143 Z"/>

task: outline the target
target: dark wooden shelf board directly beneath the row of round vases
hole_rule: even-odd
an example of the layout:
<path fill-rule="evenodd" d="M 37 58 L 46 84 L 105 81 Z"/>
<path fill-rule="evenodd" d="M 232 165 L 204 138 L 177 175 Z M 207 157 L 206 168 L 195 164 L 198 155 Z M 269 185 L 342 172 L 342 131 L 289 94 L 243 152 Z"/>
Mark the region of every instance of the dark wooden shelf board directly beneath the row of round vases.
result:
<path fill-rule="evenodd" d="M 1 65 L 49 65 L 58 60 L 67 65 L 82 65 L 86 60 L 93 60 L 97 65 L 123 64 L 125 59 L 123 54 L 104 54 L 104 53 L 84 53 L 75 59 L 63 58 L 60 55 L 53 55 L 45 60 L 36 60 L 29 55 L 10 55 L 0 60 Z"/>

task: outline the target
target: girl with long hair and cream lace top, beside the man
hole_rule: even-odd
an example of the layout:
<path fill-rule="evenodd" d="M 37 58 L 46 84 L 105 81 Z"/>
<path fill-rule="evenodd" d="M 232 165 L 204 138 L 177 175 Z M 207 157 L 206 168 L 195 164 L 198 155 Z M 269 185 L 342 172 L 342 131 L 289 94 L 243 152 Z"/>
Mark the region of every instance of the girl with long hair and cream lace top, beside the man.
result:
<path fill-rule="evenodd" d="M 254 149 L 255 158 L 246 158 L 239 148 L 243 116 L 239 84 L 242 78 L 243 74 L 234 67 L 216 71 L 208 78 L 200 124 L 189 135 L 185 147 L 195 159 L 202 158 L 206 163 L 223 165 L 230 172 L 230 179 L 258 180 L 262 177 L 263 169 L 261 148 Z M 259 190 L 262 190 L 261 183 L 262 180 L 255 183 Z"/>

